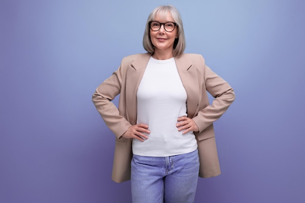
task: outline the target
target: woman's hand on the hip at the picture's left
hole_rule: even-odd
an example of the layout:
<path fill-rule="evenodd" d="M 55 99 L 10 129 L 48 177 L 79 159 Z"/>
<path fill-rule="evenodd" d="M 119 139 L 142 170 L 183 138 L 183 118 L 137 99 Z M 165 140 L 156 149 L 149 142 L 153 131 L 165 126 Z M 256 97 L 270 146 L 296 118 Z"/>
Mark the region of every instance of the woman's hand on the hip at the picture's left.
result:
<path fill-rule="evenodd" d="M 122 135 L 125 138 L 134 138 L 144 142 L 144 139 L 148 139 L 148 136 L 143 134 L 145 132 L 149 134 L 151 131 L 148 129 L 148 125 L 146 124 L 136 124 L 128 128 L 128 130 Z M 144 139 L 143 139 L 144 138 Z"/>

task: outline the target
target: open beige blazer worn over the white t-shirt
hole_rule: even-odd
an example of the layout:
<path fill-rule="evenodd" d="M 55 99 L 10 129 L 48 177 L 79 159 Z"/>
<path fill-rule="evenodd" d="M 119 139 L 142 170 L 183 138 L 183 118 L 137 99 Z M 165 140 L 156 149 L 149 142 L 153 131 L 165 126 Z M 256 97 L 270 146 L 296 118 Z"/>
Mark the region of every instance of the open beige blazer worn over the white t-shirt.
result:
<path fill-rule="evenodd" d="M 132 140 L 121 137 L 136 124 L 136 92 L 151 54 L 124 57 L 120 67 L 100 84 L 92 100 L 106 125 L 116 136 L 112 179 L 120 183 L 130 180 Z M 175 58 L 177 70 L 187 92 L 187 114 L 199 128 L 194 132 L 200 161 L 199 177 L 208 178 L 220 174 L 213 122 L 234 101 L 229 84 L 213 73 L 201 55 L 183 54 Z M 215 98 L 209 104 L 207 91 Z M 118 108 L 111 102 L 120 94 Z"/>

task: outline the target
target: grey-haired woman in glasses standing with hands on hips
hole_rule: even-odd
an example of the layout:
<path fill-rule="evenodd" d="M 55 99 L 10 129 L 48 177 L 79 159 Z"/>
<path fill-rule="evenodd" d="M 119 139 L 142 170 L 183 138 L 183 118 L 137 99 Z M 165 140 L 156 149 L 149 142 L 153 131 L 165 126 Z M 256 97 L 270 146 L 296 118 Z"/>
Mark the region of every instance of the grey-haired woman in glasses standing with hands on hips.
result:
<path fill-rule="evenodd" d="M 131 179 L 133 203 L 193 203 L 198 174 L 220 174 L 213 122 L 235 95 L 201 55 L 183 54 L 183 25 L 173 6 L 152 11 L 143 46 L 148 53 L 123 58 L 93 94 L 116 136 L 112 178 Z M 118 94 L 116 108 L 111 100 Z"/>

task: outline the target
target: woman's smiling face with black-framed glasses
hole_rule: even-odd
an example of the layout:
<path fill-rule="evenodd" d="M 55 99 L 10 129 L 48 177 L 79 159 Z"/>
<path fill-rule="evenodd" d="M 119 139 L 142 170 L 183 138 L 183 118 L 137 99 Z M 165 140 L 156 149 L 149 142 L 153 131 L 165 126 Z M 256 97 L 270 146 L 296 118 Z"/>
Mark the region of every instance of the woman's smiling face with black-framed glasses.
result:
<path fill-rule="evenodd" d="M 157 21 L 160 23 L 166 23 L 166 22 L 174 22 L 172 16 L 170 13 L 165 18 L 161 18 L 160 16 L 156 16 L 152 21 Z M 178 27 L 175 27 L 175 29 L 172 32 L 167 32 L 164 29 L 163 24 L 161 25 L 160 30 L 158 31 L 152 31 L 150 29 L 150 37 L 152 44 L 154 46 L 154 53 L 163 53 L 166 55 L 171 54 L 173 50 L 173 44 L 175 41 L 175 38 L 177 38 L 177 30 Z"/>

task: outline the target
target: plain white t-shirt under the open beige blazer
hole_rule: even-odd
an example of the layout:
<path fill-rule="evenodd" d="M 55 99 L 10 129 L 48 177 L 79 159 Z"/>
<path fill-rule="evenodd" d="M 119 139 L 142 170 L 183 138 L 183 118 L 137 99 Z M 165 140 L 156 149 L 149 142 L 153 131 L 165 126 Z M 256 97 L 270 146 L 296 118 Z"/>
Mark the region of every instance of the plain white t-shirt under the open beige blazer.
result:
<path fill-rule="evenodd" d="M 173 156 L 197 148 L 193 132 L 176 127 L 178 117 L 187 115 L 186 100 L 174 58 L 151 57 L 137 90 L 137 124 L 147 124 L 151 133 L 144 142 L 133 139 L 133 154 Z"/>

